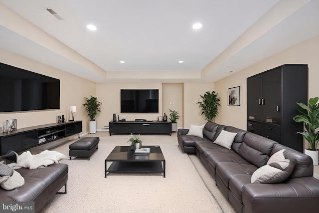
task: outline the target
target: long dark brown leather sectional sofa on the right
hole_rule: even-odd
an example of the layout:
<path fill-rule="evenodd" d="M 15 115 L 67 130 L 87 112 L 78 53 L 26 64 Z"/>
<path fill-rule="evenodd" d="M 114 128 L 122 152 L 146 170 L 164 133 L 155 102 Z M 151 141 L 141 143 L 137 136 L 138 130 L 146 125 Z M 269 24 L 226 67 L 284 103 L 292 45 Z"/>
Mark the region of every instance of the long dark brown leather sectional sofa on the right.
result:
<path fill-rule="evenodd" d="M 230 150 L 213 143 L 222 130 L 237 133 Z M 181 151 L 196 153 L 238 213 L 319 211 L 319 180 L 313 177 L 311 157 L 254 133 L 213 122 L 205 124 L 203 138 L 187 133 L 188 129 L 177 131 Z M 286 159 L 296 160 L 289 178 L 278 184 L 251 183 L 252 174 L 282 149 L 286 149 Z"/>

